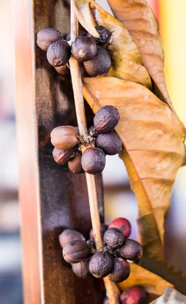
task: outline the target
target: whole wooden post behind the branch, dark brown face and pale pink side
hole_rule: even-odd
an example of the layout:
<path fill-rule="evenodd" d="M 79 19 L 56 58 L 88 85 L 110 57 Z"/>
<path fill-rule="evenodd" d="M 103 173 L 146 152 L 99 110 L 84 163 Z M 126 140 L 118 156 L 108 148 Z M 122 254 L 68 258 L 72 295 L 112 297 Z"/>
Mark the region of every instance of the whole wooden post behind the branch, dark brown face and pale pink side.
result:
<path fill-rule="evenodd" d="M 70 74 L 59 75 L 35 44 L 42 28 L 69 31 L 68 5 L 55 0 L 18 0 L 13 2 L 13 24 L 24 304 L 101 304 L 103 282 L 75 277 L 62 258 L 58 241 L 66 227 L 86 238 L 91 228 L 85 175 L 69 172 L 52 158 L 52 129 L 76 125 Z M 87 118 L 91 124 L 88 111 Z M 101 176 L 97 177 L 97 191 L 103 220 Z"/>

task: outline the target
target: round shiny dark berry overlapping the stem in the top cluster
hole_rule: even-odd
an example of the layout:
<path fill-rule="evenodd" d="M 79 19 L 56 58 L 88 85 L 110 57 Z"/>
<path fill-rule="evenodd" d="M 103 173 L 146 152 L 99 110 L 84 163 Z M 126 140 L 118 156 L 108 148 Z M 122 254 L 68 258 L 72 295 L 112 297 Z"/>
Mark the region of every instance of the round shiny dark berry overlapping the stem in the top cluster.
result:
<path fill-rule="evenodd" d="M 77 37 L 72 44 L 72 55 L 80 62 L 88 61 L 96 56 L 97 44 L 87 36 Z"/>

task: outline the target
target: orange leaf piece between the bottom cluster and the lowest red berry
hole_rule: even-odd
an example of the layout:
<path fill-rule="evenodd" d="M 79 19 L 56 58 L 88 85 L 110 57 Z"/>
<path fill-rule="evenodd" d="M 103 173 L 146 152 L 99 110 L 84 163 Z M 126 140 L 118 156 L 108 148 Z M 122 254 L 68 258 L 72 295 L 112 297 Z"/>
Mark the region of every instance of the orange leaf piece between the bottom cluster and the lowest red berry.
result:
<path fill-rule="evenodd" d="M 173 285 L 158 275 L 144 269 L 143 267 L 130 263 L 130 276 L 127 280 L 118 284 L 121 291 L 133 286 L 142 285 L 149 293 L 162 295 L 167 286 L 173 287 Z"/>

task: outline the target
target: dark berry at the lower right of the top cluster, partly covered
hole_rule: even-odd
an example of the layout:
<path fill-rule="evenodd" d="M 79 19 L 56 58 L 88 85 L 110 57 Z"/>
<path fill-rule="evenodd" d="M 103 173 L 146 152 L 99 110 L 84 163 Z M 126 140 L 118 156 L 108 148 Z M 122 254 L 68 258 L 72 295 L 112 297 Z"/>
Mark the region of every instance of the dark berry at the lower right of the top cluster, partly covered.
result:
<path fill-rule="evenodd" d="M 96 77 L 108 73 L 111 63 L 109 52 L 102 47 L 98 47 L 96 56 L 89 61 L 83 62 L 83 65 L 91 77 Z"/>

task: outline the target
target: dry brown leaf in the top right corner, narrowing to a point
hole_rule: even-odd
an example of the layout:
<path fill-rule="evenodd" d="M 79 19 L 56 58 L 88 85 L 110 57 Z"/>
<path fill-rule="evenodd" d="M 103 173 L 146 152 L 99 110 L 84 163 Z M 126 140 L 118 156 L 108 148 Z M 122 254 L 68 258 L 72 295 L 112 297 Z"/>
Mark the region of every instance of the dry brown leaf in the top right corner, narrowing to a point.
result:
<path fill-rule="evenodd" d="M 158 31 L 158 22 L 151 8 L 146 0 L 107 1 L 114 16 L 128 29 L 140 51 L 143 64 L 161 92 L 155 88 L 155 94 L 174 110 L 165 83 L 164 51 Z"/>

